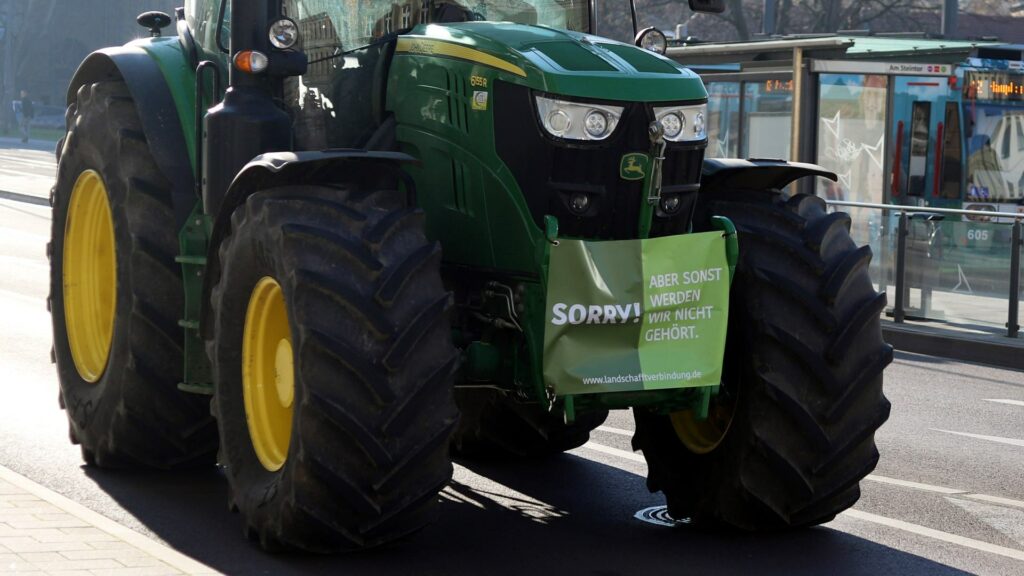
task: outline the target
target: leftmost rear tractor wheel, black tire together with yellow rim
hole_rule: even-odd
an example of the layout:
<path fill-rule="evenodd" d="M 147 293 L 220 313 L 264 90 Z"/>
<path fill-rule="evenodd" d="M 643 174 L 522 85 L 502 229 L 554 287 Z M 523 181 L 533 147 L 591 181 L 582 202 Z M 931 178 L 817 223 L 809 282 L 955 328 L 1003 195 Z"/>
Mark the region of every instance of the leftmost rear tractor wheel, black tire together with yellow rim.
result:
<path fill-rule="evenodd" d="M 177 388 L 184 306 L 170 183 L 123 82 L 83 86 L 68 125 L 49 303 L 72 441 L 100 466 L 212 464 L 210 402 Z"/>

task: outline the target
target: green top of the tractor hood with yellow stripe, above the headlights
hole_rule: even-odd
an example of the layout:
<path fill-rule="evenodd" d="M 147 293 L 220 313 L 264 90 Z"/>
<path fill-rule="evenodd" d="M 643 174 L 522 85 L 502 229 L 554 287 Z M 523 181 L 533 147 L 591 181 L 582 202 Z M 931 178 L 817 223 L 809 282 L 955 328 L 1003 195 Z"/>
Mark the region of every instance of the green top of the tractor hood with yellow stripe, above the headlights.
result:
<path fill-rule="evenodd" d="M 473 59 L 536 90 L 583 98 L 680 101 L 708 97 L 696 74 L 630 44 L 540 26 L 458 23 L 419 26 L 399 51 Z"/>

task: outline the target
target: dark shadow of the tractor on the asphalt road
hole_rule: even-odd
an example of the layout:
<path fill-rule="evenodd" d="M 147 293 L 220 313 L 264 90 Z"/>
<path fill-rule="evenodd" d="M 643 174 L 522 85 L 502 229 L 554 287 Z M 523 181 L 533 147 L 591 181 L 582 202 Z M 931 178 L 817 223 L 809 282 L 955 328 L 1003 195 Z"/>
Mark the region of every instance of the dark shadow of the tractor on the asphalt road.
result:
<path fill-rule="evenodd" d="M 216 470 L 86 474 L 171 546 L 227 574 L 964 574 L 830 528 L 752 536 L 644 524 L 633 513 L 660 498 L 641 477 L 571 454 L 463 466 L 436 524 L 340 557 L 261 552 L 226 510 Z"/>

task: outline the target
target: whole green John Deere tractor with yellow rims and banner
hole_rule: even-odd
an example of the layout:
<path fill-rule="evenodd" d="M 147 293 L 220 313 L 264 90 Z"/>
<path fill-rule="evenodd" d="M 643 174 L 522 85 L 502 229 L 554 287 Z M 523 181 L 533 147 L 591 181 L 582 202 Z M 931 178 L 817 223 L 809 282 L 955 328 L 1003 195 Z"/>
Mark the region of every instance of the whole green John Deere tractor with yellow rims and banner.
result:
<path fill-rule="evenodd" d="M 425 526 L 453 453 L 632 409 L 674 518 L 852 505 L 889 414 L 870 250 L 784 192 L 834 174 L 703 158 L 705 87 L 638 15 L 186 0 L 88 56 L 50 246 L 85 461 L 219 462 L 250 537 L 335 551 Z"/>

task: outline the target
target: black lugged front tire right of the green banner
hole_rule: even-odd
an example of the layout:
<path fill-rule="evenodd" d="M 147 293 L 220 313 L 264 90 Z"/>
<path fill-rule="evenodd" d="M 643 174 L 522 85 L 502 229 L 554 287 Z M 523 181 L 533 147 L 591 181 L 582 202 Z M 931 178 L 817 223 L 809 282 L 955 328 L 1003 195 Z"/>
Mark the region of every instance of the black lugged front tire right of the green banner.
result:
<path fill-rule="evenodd" d="M 637 410 L 634 449 L 674 518 L 743 530 L 827 522 L 859 498 L 889 416 L 882 371 L 892 347 L 882 339 L 885 294 L 868 278 L 870 249 L 850 239 L 849 216 L 827 214 L 816 197 L 716 195 L 698 221 L 724 215 L 739 231 L 716 400 L 731 425 L 698 454 L 669 416 Z"/>

